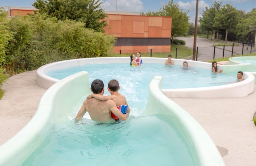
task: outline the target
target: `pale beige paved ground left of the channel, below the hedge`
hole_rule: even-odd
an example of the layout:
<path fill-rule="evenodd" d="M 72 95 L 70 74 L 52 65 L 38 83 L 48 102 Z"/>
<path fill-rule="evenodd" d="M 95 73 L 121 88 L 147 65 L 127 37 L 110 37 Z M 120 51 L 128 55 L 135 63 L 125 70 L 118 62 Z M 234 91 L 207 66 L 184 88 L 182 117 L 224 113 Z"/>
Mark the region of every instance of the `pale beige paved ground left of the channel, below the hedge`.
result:
<path fill-rule="evenodd" d="M 30 121 L 46 91 L 36 85 L 36 70 L 10 77 L 2 89 L 5 93 L 0 100 L 0 145 Z"/>

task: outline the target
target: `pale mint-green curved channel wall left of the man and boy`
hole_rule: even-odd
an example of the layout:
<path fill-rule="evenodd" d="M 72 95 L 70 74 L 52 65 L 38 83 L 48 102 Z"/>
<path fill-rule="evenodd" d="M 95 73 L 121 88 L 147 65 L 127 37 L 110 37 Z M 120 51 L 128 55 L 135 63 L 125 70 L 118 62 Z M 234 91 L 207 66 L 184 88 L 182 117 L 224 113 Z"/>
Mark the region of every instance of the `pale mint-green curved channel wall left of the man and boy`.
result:
<path fill-rule="evenodd" d="M 45 140 L 54 123 L 68 119 L 68 114 L 85 94 L 89 94 L 88 72 L 82 71 L 49 88 L 29 123 L 0 146 L 0 166 L 20 166 Z"/>

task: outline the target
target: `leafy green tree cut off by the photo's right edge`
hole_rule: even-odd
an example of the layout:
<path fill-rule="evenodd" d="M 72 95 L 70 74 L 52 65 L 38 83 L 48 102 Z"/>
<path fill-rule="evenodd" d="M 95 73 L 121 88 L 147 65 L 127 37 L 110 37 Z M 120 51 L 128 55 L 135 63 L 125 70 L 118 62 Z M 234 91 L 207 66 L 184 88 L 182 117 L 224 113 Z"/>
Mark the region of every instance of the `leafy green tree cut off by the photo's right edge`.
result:
<path fill-rule="evenodd" d="M 256 8 L 245 14 L 245 17 L 236 25 L 235 33 L 238 37 L 248 41 L 250 36 L 255 35 L 255 31 L 252 30 L 253 27 L 256 27 Z"/>

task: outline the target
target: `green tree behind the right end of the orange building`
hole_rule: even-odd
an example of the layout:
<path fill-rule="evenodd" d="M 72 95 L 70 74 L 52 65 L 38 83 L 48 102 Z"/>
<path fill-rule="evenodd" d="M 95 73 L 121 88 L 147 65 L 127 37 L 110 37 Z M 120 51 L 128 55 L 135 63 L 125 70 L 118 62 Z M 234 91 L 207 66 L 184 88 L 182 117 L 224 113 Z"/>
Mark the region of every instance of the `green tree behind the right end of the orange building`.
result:
<path fill-rule="evenodd" d="M 177 3 L 173 3 L 173 0 L 166 3 L 157 12 L 149 11 L 146 13 L 141 13 L 141 15 L 172 17 L 172 22 L 171 22 L 172 44 L 173 44 L 174 37 L 182 36 L 188 33 L 189 16 L 187 14 L 188 12 L 183 12 L 182 9 L 179 9 L 179 5 Z"/>

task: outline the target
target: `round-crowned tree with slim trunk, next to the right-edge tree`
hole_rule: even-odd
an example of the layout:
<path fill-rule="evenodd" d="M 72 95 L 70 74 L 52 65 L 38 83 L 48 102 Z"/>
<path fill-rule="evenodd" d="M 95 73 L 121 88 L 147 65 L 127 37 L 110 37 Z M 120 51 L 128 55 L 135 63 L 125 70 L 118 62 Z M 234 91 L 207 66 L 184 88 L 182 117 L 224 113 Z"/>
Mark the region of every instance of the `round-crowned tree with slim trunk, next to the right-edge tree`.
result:
<path fill-rule="evenodd" d="M 240 19 L 240 11 L 230 4 L 224 5 L 214 18 L 214 27 L 226 30 L 225 42 L 229 31 L 234 31 L 235 26 Z"/>

